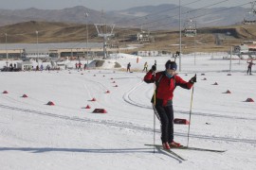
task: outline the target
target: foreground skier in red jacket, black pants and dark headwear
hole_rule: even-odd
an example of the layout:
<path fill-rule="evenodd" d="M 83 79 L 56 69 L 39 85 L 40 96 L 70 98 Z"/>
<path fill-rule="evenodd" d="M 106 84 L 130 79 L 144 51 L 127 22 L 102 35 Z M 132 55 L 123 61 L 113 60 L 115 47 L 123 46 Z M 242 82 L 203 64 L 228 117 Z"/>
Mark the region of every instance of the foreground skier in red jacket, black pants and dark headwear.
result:
<path fill-rule="evenodd" d="M 157 72 L 156 65 L 144 76 L 146 83 L 155 83 L 156 89 L 152 98 L 153 109 L 161 124 L 161 141 L 164 149 L 178 147 L 180 144 L 174 142 L 174 89 L 180 86 L 183 89 L 191 89 L 196 82 L 196 75 L 189 82 L 176 75 L 177 65 L 168 60 L 165 71 Z"/>

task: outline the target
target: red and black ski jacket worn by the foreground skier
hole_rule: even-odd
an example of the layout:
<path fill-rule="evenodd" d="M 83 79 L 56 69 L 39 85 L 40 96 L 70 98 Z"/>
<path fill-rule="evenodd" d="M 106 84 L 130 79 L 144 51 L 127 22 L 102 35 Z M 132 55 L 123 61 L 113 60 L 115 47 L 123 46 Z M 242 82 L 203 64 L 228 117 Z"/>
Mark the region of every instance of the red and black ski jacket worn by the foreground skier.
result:
<path fill-rule="evenodd" d="M 155 76 L 153 75 L 152 71 L 149 71 L 147 75 L 144 76 L 144 81 L 146 83 L 155 82 L 155 104 L 161 106 L 168 106 L 173 104 L 174 89 L 176 86 L 180 86 L 184 89 L 192 88 L 191 82 L 187 82 L 177 75 L 169 78 L 165 75 L 164 71 L 155 73 Z M 154 103 L 154 97 L 152 103 Z"/>

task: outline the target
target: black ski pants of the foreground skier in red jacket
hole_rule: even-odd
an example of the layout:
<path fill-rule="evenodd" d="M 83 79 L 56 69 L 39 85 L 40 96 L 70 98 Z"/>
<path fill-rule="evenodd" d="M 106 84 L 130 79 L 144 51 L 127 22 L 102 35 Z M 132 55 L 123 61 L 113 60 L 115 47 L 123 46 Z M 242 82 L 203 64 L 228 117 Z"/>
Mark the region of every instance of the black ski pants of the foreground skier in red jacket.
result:
<path fill-rule="evenodd" d="M 174 109 L 171 106 L 155 106 L 155 114 L 161 124 L 162 143 L 171 143 L 174 141 Z"/>

